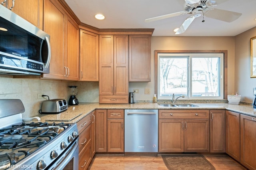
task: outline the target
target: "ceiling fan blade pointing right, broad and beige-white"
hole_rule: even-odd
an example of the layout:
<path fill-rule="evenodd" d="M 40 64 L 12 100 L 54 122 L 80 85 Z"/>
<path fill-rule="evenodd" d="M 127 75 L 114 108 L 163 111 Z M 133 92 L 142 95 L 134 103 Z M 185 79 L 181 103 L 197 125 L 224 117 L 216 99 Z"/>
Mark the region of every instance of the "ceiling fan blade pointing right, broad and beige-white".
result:
<path fill-rule="evenodd" d="M 216 20 L 225 21 L 225 22 L 232 22 L 238 19 L 241 15 L 242 14 L 238 12 L 232 12 L 232 11 L 220 10 L 220 9 L 214 8 L 213 10 L 209 10 L 208 12 L 206 12 L 204 16 L 213 18 Z"/>

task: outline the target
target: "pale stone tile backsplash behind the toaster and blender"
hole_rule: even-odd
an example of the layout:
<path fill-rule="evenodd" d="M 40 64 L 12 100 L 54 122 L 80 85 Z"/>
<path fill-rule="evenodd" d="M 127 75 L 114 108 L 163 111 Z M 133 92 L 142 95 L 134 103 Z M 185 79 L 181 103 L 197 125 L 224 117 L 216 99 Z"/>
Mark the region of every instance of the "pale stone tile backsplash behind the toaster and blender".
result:
<path fill-rule="evenodd" d="M 78 86 L 79 102 L 98 102 L 98 82 L 75 82 L 49 79 L 12 78 L 9 75 L 0 75 L 0 99 L 20 99 L 25 107 L 23 117 L 38 115 L 42 101 L 38 93 L 48 95 L 50 99 L 66 99 L 70 97 L 69 85 Z M 0 106 L 1 107 L 1 106 Z"/>

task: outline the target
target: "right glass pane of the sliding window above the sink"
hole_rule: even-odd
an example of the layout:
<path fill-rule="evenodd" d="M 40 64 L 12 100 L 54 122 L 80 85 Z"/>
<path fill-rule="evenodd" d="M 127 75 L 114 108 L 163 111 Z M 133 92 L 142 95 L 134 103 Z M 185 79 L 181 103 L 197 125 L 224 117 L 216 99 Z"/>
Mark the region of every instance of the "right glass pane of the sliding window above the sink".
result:
<path fill-rule="evenodd" d="M 220 58 L 192 57 L 192 96 L 220 96 Z"/>

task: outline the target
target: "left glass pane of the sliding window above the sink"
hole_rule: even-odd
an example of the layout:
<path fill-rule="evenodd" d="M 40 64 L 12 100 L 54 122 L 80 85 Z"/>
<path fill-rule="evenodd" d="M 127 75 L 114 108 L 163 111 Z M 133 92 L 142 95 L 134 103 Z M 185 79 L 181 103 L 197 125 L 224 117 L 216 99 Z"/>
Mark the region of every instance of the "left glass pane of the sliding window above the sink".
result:
<path fill-rule="evenodd" d="M 188 57 L 159 57 L 160 96 L 187 96 Z"/>

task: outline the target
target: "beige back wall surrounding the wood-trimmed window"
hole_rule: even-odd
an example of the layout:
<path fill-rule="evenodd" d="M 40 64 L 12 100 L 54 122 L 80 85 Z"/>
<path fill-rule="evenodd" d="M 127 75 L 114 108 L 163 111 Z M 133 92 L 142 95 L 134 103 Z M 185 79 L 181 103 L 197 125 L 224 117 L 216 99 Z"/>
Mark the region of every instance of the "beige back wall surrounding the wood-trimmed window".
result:
<path fill-rule="evenodd" d="M 228 95 L 234 94 L 234 37 L 164 37 L 152 36 L 151 38 L 151 82 L 129 83 L 129 92 L 139 89 L 135 100 L 152 100 L 154 96 L 154 51 L 155 50 L 228 50 Z M 144 89 L 150 89 L 150 95 L 144 94 Z"/>

